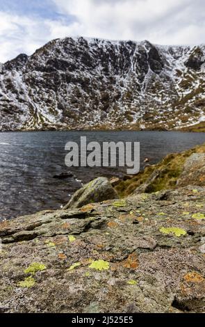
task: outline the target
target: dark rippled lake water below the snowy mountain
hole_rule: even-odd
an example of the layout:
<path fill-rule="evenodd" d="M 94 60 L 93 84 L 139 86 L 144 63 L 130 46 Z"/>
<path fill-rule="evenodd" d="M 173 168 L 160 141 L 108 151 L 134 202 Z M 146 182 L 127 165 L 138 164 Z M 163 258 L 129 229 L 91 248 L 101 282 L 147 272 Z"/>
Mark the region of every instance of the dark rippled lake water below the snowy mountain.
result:
<path fill-rule="evenodd" d="M 175 131 L 39 131 L 0 133 L 0 221 L 5 218 L 58 209 L 81 182 L 97 176 L 122 177 L 124 168 L 67 168 L 65 144 L 88 141 L 140 142 L 140 162 L 156 163 L 165 154 L 180 152 L 205 142 L 205 133 Z M 54 175 L 71 171 L 58 180 Z"/>

